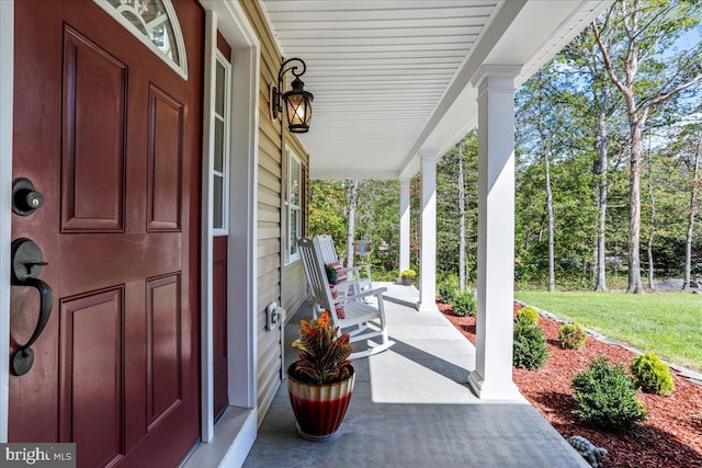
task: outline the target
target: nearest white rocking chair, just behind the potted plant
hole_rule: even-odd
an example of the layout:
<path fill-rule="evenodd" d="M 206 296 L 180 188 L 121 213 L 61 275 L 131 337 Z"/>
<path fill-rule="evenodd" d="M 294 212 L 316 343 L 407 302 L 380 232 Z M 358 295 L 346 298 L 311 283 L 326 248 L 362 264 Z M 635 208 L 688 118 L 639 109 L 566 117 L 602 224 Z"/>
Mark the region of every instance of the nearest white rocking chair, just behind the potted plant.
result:
<path fill-rule="evenodd" d="M 317 308 L 329 311 L 333 323 L 339 327 L 340 332 L 349 333 L 350 342 L 367 340 L 381 336 L 381 343 L 370 342 L 369 350 L 359 351 L 351 354 L 352 359 L 366 357 L 372 354 L 380 353 L 390 347 L 395 342 L 389 341 L 387 334 L 387 322 L 385 320 L 385 306 L 383 304 L 383 293 L 387 288 L 367 289 L 360 294 L 341 295 L 338 298 L 331 296 L 331 288 L 325 272 L 325 261 L 318 250 L 316 242 L 309 238 L 299 238 L 297 240 L 299 247 L 299 255 L 303 259 L 305 274 L 307 275 L 307 284 L 312 293 L 312 299 L 316 316 Z M 365 297 L 375 296 L 377 298 L 377 307 L 364 303 Z M 343 308 L 343 313 L 337 308 Z M 348 330 L 353 328 L 353 330 Z"/>

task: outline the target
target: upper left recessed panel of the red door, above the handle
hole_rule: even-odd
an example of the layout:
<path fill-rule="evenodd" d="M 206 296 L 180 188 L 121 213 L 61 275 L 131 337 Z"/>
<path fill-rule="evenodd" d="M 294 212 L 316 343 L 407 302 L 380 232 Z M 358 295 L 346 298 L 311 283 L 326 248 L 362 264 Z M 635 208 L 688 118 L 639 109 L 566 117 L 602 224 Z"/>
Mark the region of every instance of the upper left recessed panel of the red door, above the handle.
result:
<path fill-rule="evenodd" d="M 127 66 L 65 26 L 63 81 L 61 231 L 123 231 Z"/>

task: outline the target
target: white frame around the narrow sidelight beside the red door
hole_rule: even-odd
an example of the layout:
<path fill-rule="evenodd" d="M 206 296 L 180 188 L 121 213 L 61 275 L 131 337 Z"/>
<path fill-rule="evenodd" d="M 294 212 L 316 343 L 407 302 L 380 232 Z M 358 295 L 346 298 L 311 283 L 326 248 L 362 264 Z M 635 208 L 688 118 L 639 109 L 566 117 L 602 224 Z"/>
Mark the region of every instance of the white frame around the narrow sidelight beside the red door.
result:
<path fill-rule="evenodd" d="M 247 15 L 236 0 L 201 0 L 205 9 L 205 102 L 203 109 L 203 205 L 202 205 L 202 438 L 214 431 L 211 146 L 217 30 L 231 45 L 231 128 L 229 170 L 229 240 L 227 259 L 227 336 L 229 404 L 257 410 L 257 237 L 258 237 L 258 134 L 260 44 Z M 256 438 L 256 423 L 247 424 L 238 437 L 246 441 L 235 458 L 246 457 Z M 247 446 L 248 445 L 248 446 Z M 236 447 L 235 447 L 236 448 Z M 244 458 L 241 458 L 242 460 Z"/>

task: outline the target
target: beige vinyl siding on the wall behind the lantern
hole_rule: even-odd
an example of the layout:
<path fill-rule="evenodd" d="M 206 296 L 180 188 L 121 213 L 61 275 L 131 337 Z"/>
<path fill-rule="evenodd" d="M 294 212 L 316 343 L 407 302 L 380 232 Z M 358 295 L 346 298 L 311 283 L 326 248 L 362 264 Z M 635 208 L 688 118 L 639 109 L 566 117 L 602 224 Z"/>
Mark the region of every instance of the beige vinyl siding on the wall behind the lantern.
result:
<path fill-rule="evenodd" d="M 278 303 L 283 307 L 294 306 L 307 294 L 302 264 L 288 272 L 283 269 L 284 212 L 283 212 L 283 135 L 279 118 L 269 116 L 269 84 L 278 81 L 282 62 L 280 50 L 267 27 L 259 2 L 240 0 L 250 24 L 256 30 L 261 44 L 261 76 L 259 77 L 259 180 L 258 180 L 258 308 L 256 332 L 258 336 L 258 416 L 261 423 L 270 403 L 281 385 L 282 366 L 280 331 L 265 330 L 265 307 Z M 307 153 L 295 137 L 286 136 L 301 158 L 304 158 L 304 174 L 307 174 Z M 291 142 L 288 142 L 291 144 Z M 305 180 L 305 184 L 308 182 Z M 305 204 L 306 209 L 307 204 Z M 303 219 L 307 214 L 303 215 Z M 304 227 L 306 229 L 306 227 Z M 306 231 L 306 230 L 305 230 Z M 285 269 L 286 270 L 286 269 Z M 299 270 L 299 271 L 297 271 Z M 301 285 L 302 272 L 302 289 Z M 287 309 L 290 310 L 290 309 Z"/>

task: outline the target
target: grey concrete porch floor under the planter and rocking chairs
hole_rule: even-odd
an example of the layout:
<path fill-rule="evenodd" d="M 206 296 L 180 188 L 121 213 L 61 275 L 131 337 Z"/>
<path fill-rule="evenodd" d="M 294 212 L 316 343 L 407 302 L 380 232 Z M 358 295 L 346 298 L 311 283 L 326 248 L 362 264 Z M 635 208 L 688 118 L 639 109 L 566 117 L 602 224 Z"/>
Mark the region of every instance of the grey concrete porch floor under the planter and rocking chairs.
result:
<path fill-rule="evenodd" d="M 467 386 L 474 346 L 440 312 L 418 312 L 416 288 L 392 283 L 385 296 L 395 345 L 353 362 L 356 379 L 341 436 L 326 443 L 297 435 L 283 381 L 245 467 L 589 467 L 525 400 L 485 402 Z M 285 327 L 290 343 L 305 303 Z"/>

